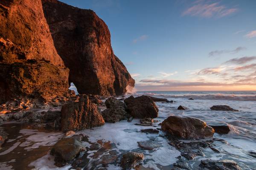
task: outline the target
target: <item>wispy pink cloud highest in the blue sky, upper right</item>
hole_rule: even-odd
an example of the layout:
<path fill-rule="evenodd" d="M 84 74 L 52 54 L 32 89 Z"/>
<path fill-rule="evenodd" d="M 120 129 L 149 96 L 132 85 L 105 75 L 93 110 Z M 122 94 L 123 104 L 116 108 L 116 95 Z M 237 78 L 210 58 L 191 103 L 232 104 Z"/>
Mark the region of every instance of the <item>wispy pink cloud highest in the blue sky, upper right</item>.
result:
<path fill-rule="evenodd" d="M 225 17 L 238 11 L 238 8 L 227 8 L 219 3 L 205 3 L 204 1 L 197 1 L 196 5 L 183 11 L 182 16 L 190 15 L 196 17 Z"/>

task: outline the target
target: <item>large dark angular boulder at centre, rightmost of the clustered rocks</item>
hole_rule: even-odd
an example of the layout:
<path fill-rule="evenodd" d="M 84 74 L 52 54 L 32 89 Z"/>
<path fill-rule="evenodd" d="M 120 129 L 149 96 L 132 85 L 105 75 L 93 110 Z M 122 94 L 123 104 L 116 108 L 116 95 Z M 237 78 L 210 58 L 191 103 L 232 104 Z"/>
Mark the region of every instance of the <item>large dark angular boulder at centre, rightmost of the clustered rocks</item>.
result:
<path fill-rule="evenodd" d="M 157 105 L 149 96 L 139 96 L 136 98 L 130 96 L 124 102 L 127 105 L 128 112 L 134 118 L 156 118 L 158 116 Z"/>

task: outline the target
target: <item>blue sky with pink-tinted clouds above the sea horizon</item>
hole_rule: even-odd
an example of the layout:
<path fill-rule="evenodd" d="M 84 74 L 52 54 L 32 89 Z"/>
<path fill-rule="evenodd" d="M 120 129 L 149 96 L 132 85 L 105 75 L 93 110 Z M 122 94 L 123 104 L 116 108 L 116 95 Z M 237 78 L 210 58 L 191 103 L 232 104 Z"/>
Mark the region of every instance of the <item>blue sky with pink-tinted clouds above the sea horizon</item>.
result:
<path fill-rule="evenodd" d="M 256 90 L 256 0 L 61 0 L 92 9 L 138 91 Z"/>

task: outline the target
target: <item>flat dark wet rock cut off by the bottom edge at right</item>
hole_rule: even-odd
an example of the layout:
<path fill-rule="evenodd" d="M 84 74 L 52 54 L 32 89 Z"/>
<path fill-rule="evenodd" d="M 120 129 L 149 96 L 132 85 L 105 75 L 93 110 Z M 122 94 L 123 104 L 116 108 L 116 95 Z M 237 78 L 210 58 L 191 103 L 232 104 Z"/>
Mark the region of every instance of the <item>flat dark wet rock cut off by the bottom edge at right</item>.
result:
<path fill-rule="evenodd" d="M 241 170 L 239 165 L 231 160 L 204 160 L 199 166 L 201 170 Z"/>

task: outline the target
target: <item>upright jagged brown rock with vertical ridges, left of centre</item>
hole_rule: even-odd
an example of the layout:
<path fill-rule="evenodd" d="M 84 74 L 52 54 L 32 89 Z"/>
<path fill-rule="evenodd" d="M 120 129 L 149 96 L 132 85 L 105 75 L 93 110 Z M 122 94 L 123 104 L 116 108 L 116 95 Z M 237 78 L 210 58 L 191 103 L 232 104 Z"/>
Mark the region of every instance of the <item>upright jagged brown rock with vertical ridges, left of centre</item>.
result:
<path fill-rule="evenodd" d="M 61 130 L 82 130 L 104 125 L 97 106 L 87 95 L 79 95 L 78 102 L 69 102 L 61 108 Z"/>

